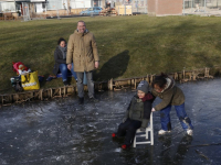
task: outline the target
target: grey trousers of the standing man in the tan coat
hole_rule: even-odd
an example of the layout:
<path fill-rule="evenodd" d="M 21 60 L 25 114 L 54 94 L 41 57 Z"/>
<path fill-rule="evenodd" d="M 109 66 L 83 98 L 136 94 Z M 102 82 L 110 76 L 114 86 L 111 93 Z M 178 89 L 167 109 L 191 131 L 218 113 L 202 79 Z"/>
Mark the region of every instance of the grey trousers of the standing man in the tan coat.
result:
<path fill-rule="evenodd" d="M 94 97 L 94 81 L 93 81 L 93 72 L 85 72 L 86 74 L 86 79 L 87 79 L 87 88 L 88 88 L 88 97 L 93 98 Z M 77 76 L 77 92 L 78 97 L 83 98 L 84 97 L 84 73 L 76 73 Z"/>

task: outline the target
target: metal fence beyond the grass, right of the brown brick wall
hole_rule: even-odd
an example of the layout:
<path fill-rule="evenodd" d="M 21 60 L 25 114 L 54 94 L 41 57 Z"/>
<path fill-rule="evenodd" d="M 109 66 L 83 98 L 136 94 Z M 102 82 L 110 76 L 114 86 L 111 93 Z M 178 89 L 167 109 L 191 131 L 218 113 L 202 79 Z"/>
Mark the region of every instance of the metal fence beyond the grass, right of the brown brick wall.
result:
<path fill-rule="evenodd" d="M 221 0 L 183 0 L 183 14 L 221 15 Z"/>

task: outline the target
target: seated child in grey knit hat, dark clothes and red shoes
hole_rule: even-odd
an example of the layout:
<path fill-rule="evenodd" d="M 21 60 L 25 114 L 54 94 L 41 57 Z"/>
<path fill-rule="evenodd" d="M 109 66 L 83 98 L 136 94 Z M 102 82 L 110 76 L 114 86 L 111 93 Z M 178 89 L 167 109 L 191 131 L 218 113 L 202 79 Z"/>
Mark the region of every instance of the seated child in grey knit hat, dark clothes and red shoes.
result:
<path fill-rule="evenodd" d="M 146 80 L 139 82 L 137 95 L 131 98 L 129 107 L 123 122 L 118 125 L 117 133 L 113 133 L 113 138 L 125 136 L 122 148 L 128 148 L 136 134 L 136 130 L 145 131 L 149 123 L 151 113 L 152 95 L 149 92 L 149 85 Z"/>

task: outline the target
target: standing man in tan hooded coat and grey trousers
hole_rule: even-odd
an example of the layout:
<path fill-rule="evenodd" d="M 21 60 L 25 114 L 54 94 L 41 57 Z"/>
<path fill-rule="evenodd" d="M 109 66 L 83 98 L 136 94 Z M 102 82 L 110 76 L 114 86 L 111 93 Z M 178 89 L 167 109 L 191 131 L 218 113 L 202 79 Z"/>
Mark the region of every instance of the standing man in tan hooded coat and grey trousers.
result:
<path fill-rule="evenodd" d="M 84 72 L 87 79 L 88 97 L 94 97 L 93 70 L 99 66 L 99 57 L 94 35 L 86 29 L 84 21 L 77 22 L 77 29 L 70 35 L 67 44 L 66 64 L 67 68 L 72 68 L 74 63 L 74 72 L 77 76 L 78 103 L 84 103 Z"/>

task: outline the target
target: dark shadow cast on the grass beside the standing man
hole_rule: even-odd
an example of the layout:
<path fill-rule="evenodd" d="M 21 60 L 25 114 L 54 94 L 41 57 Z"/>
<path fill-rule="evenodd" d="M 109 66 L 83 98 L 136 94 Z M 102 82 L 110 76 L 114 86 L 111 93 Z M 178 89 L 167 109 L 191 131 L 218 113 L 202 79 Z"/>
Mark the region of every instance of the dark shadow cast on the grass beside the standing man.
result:
<path fill-rule="evenodd" d="M 96 70 L 94 73 L 94 79 L 102 81 L 123 76 L 127 69 L 128 62 L 129 51 L 125 50 L 106 62 L 99 70 Z"/>

